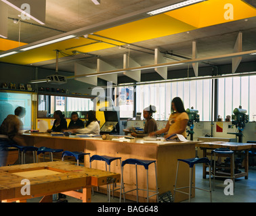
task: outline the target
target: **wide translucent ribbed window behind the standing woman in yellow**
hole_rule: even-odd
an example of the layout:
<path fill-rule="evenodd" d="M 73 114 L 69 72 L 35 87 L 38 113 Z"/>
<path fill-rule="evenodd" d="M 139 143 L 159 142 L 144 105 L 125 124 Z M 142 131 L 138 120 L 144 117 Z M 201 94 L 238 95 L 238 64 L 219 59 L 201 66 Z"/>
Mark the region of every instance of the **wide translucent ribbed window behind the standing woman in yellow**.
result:
<path fill-rule="evenodd" d="M 182 99 L 185 109 L 197 109 L 201 121 L 211 120 L 211 80 L 136 86 L 136 112 L 142 112 L 149 105 L 154 105 L 154 119 L 167 120 L 171 115 L 171 101 L 175 97 Z"/>

